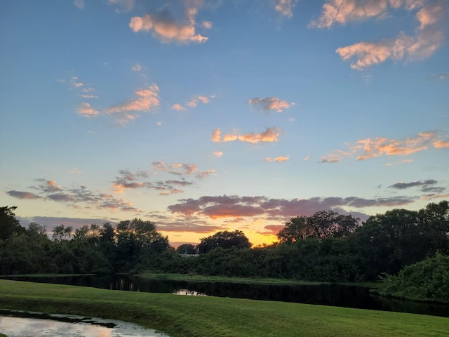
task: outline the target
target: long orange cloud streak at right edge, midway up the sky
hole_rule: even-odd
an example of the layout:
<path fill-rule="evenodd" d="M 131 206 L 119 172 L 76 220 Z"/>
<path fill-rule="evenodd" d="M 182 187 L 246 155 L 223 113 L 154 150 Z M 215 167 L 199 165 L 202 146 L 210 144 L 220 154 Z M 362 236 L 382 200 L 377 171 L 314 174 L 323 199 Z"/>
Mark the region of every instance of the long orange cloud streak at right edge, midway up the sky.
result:
<path fill-rule="evenodd" d="M 381 156 L 408 156 L 415 152 L 427 150 L 429 145 L 435 148 L 444 147 L 445 142 L 439 140 L 436 131 L 420 132 L 415 138 L 397 140 L 385 137 L 374 139 L 366 138 L 357 140 L 355 145 L 348 145 L 349 151 L 335 150 L 323 157 L 321 162 L 335 163 L 341 161 L 343 157 L 354 157 L 356 160 L 366 160 Z"/>

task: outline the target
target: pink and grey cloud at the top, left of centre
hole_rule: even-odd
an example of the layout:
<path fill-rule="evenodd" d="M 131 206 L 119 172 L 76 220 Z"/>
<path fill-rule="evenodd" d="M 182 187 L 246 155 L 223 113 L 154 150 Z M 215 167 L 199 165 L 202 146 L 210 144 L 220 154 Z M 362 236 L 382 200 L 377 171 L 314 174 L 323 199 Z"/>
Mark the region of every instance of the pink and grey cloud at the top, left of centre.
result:
<path fill-rule="evenodd" d="M 202 1 L 184 1 L 185 8 L 182 22 L 177 22 L 168 8 L 162 11 L 149 13 L 143 17 L 131 18 L 129 27 L 133 32 L 152 32 L 153 37 L 160 39 L 163 43 L 176 41 L 181 44 L 204 43 L 208 40 L 201 34 L 196 34 L 196 15 L 201 7 Z"/>

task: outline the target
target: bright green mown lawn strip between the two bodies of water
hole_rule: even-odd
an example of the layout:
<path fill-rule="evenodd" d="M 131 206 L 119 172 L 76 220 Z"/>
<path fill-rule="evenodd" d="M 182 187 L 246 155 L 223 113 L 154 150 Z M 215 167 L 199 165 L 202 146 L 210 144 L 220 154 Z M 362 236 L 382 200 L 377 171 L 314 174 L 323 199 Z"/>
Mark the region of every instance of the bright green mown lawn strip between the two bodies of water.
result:
<path fill-rule="evenodd" d="M 449 318 L 0 279 L 0 308 L 134 322 L 171 337 L 449 336 Z"/>

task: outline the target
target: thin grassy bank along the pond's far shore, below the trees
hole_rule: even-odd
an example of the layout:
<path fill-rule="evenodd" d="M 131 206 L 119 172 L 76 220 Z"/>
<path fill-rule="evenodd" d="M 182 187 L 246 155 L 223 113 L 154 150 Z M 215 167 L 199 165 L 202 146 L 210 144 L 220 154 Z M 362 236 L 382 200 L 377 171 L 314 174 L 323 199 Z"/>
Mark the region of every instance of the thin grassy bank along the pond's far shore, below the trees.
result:
<path fill-rule="evenodd" d="M 262 277 L 225 277 L 225 276 L 203 276 L 203 275 L 189 275 L 189 274 L 159 274 L 152 272 L 142 272 L 137 277 L 145 279 L 157 280 L 172 280 L 172 281 L 186 281 L 186 282 L 226 282 L 239 284 L 274 284 L 274 285 L 319 285 L 330 284 L 329 282 L 311 282 L 301 281 L 299 279 L 272 279 Z M 371 288 L 375 285 L 373 282 L 366 283 L 340 283 L 351 286 L 366 286 Z"/>

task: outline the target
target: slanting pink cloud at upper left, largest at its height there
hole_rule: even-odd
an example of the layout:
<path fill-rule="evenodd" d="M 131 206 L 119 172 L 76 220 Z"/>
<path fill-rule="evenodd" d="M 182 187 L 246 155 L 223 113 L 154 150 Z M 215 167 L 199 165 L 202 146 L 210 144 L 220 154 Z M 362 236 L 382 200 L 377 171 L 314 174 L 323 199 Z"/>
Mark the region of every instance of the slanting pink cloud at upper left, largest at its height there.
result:
<path fill-rule="evenodd" d="M 126 124 L 128 121 L 132 121 L 138 117 L 136 112 L 149 112 L 159 107 L 159 87 L 156 84 L 136 90 L 135 95 L 137 98 L 134 100 L 109 107 L 105 112 L 107 114 L 118 114 L 117 122 L 119 124 Z"/>

